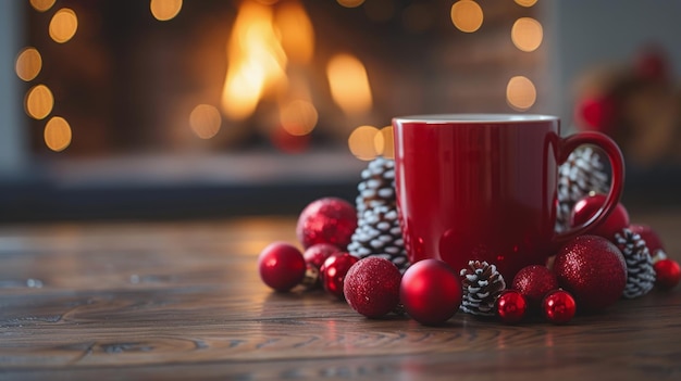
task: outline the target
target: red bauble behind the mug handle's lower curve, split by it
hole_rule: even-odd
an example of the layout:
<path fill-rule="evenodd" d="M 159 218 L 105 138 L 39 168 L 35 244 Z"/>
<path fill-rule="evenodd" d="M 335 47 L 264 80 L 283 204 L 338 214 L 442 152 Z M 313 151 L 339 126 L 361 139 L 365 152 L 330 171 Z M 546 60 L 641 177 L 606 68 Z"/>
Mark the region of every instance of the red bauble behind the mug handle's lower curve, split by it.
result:
<path fill-rule="evenodd" d="M 604 204 L 604 194 L 587 195 L 578 201 L 572 208 L 570 224 L 578 226 L 586 223 Z M 629 226 L 629 213 L 621 203 L 617 203 L 610 215 L 600 224 L 592 227 L 589 234 L 605 237 L 612 241 L 615 233 L 622 231 L 627 226 Z"/>

